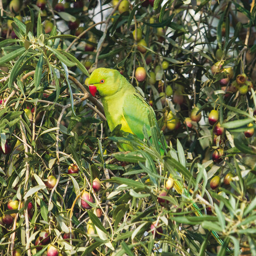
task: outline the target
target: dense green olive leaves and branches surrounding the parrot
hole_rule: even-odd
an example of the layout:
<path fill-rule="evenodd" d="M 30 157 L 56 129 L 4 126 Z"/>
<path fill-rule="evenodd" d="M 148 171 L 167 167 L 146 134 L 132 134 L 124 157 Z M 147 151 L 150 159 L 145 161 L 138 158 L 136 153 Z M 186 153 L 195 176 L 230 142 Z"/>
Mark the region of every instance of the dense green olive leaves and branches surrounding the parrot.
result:
<path fill-rule="evenodd" d="M 137 0 L 123 13 L 122 1 L 57 9 L 48 0 L 42 11 L 43 0 L 17 9 L 9 2 L 0 1 L 2 255 L 46 254 L 48 244 L 35 245 L 44 232 L 63 255 L 256 255 L 256 137 L 244 134 L 256 127 L 255 2 Z M 150 102 L 160 127 L 152 123 L 152 139 L 118 137 L 120 127 L 110 133 L 87 92 L 97 67 L 118 69 Z M 146 70 L 142 82 L 137 67 Z M 234 84 L 243 73 L 253 86 L 242 90 Z M 200 122 L 187 122 L 195 107 Z M 208 122 L 213 109 L 225 129 L 219 136 Z M 120 141 L 134 151 L 119 152 Z M 158 141 L 167 142 L 164 155 Z M 220 161 L 214 150 L 223 150 Z M 78 174 L 68 174 L 71 164 Z M 168 190 L 170 175 L 184 189 Z M 91 209 L 81 207 L 84 191 Z M 18 209 L 7 207 L 11 200 Z"/>

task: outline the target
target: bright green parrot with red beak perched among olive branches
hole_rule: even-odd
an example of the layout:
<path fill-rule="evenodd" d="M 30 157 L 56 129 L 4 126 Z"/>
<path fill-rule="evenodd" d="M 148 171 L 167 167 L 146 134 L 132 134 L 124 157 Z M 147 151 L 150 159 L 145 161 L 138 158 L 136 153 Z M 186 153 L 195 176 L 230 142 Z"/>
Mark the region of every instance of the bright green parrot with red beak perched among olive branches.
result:
<path fill-rule="evenodd" d="M 90 93 L 100 94 L 106 119 L 111 131 L 122 125 L 125 133 L 137 135 L 143 139 L 143 126 L 150 135 L 148 114 L 155 115 L 154 110 L 117 70 L 97 68 L 89 78 Z"/>

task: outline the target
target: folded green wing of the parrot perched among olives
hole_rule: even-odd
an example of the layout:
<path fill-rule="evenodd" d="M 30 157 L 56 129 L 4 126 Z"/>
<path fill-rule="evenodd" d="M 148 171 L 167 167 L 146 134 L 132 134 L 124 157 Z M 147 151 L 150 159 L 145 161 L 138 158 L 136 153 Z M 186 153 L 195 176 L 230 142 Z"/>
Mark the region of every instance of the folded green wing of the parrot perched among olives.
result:
<path fill-rule="evenodd" d="M 143 139 L 143 126 L 146 125 L 148 135 L 150 135 L 150 123 L 148 114 L 154 112 L 151 106 L 138 93 L 125 95 L 123 103 L 123 117 L 125 118 L 131 131 L 139 138 Z"/>

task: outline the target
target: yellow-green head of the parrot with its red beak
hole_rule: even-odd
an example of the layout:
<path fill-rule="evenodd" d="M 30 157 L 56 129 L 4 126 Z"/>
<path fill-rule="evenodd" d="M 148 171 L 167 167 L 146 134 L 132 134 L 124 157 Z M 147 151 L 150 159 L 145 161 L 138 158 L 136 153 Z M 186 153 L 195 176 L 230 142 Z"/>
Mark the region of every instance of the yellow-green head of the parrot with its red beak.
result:
<path fill-rule="evenodd" d="M 101 97 L 112 96 L 121 89 L 121 74 L 110 68 L 97 68 L 89 78 L 89 90 L 92 96 L 96 92 Z"/>

